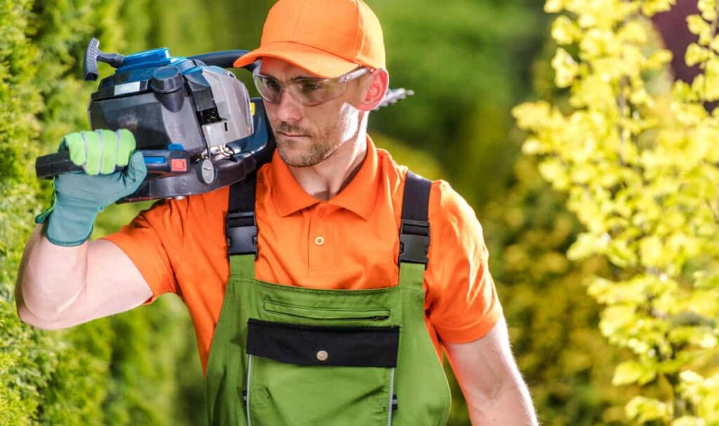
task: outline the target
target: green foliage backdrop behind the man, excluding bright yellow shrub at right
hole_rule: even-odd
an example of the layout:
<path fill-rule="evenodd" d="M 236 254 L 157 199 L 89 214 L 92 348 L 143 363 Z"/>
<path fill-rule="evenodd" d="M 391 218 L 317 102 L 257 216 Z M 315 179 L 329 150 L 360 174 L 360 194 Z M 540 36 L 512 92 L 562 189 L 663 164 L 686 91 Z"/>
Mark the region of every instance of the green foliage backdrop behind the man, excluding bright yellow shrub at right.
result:
<path fill-rule="evenodd" d="M 416 92 L 372 116 L 370 133 L 395 159 L 448 180 L 485 228 L 490 269 L 518 364 L 544 425 L 618 425 L 620 356 L 597 330 L 584 278 L 608 266 L 570 262 L 578 225 L 520 156 L 510 109 L 551 98 L 549 17 L 536 0 L 368 0 L 383 23 L 390 85 Z M 203 425 L 196 343 L 177 297 L 71 330 L 19 322 L 13 288 L 32 218 L 50 187 L 35 157 L 88 127 L 95 83 L 81 80 L 90 37 L 131 53 L 252 48 L 273 1 L 0 0 L 0 424 Z M 101 66 L 101 73 L 109 73 Z M 245 81 L 247 73 L 237 75 Z M 254 88 L 251 89 L 254 91 Z M 93 237 L 148 204 L 112 206 Z M 451 425 L 469 425 L 453 382 Z"/>

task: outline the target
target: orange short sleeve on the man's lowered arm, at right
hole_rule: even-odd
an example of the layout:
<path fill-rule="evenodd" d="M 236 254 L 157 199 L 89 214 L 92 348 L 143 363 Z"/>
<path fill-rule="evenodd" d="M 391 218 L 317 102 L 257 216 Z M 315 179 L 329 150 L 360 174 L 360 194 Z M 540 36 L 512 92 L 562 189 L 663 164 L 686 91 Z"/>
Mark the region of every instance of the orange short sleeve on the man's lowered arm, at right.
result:
<path fill-rule="evenodd" d="M 467 201 L 443 180 L 432 183 L 429 223 L 424 278 L 429 320 L 444 343 L 474 341 L 503 315 L 482 226 Z"/>

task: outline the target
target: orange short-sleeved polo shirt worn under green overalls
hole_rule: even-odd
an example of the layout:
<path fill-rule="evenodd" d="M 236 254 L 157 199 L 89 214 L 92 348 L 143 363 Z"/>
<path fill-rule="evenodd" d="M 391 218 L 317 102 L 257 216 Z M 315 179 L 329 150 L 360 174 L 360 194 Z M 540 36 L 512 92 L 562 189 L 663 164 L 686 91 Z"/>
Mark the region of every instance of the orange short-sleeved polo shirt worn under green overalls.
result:
<path fill-rule="evenodd" d="M 259 255 L 255 277 L 299 287 L 357 290 L 399 282 L 399 226 L 407 168 L 367 138 L 367 157 L 334 198 L 306 193 L 275 152 L 257 172 Z M 105 239 L 119 246 L 152 288 L 152 302 L 179 295 L 192 317 L 206 369 L 229 277 L 224 235 L 229 187 L 161 200 Z M 440 341 L 485 335 L 502 309 L 487 269 L 487 248 L 474 211 L 447 182 L 432 182 L 425 323 Z"/>

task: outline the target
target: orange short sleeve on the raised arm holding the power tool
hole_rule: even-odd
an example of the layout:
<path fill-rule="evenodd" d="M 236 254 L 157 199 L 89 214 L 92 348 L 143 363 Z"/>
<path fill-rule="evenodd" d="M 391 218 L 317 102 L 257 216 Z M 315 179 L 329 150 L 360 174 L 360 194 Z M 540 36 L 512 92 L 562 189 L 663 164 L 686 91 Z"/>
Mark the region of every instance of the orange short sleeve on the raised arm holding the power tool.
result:
<path fill-rule="evenodd" d="M 187 210 L 187 198 L 160 200 L 120 231 L 102 238 L 119 246 L 145 277 L 152 289 L 152 298 L 145 303 L 178 292 Z"/>

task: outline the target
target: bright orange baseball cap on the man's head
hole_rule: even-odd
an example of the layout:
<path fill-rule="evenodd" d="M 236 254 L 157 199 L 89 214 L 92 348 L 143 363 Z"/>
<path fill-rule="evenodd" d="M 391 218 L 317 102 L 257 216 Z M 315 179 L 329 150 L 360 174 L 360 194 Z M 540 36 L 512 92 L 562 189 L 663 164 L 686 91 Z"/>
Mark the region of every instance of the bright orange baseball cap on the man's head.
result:
<path fill-rule="evenodd" d="M 234 67 L 262 57 L 333 78 L 358 66 L 385 68 L 385 42 L 380 20 L 362 0 L 279 0 L 267 14 L 260 47 Z"/>

